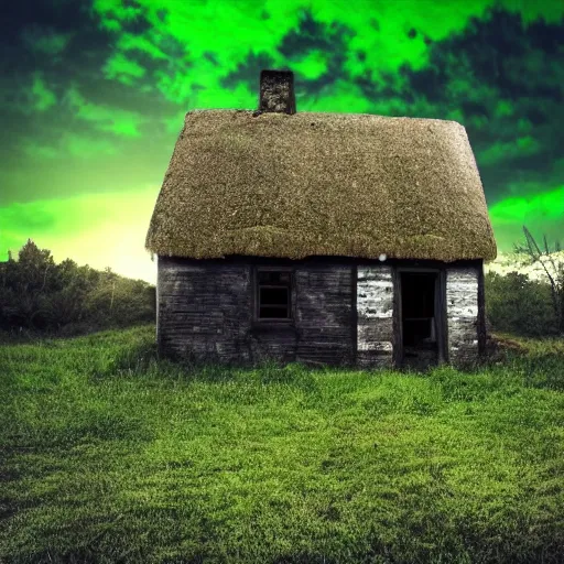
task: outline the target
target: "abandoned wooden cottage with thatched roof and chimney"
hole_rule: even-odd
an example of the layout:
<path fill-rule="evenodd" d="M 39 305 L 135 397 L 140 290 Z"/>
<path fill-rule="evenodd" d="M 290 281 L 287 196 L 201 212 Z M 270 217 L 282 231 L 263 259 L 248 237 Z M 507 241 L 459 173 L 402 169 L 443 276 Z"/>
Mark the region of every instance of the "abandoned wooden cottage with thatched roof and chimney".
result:
<path fill-rule="evenodd" d="M 145 247 L 161 354 L 235 365 L 462 365 L 482 354 L 496 242 L 454 121 L 259 109 L 186 115 Z"/>

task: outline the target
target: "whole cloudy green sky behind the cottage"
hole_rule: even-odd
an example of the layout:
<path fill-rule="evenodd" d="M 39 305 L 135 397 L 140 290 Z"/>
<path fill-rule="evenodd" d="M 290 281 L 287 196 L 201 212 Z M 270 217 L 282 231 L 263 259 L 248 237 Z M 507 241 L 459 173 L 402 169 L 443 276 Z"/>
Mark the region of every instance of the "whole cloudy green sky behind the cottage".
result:
<path fill-rule="evenodd" d="M 465 126 L 498 250 L 564 245 L 562 0 L 20 0 L 0 18 L 0 260 L 156 279 L 144 240 L 184 115 L 257 109 Z"/>

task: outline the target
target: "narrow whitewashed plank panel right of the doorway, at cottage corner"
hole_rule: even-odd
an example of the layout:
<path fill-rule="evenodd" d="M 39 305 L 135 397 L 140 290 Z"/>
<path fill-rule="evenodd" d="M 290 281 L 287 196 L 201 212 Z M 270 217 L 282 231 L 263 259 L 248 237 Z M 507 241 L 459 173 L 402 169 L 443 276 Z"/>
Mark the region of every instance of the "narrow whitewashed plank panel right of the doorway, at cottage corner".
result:
<path fill-rule="evenodd" d="M 478 358 L 478 267 L 446 269 L 448 360 L 453 365 Z"/>

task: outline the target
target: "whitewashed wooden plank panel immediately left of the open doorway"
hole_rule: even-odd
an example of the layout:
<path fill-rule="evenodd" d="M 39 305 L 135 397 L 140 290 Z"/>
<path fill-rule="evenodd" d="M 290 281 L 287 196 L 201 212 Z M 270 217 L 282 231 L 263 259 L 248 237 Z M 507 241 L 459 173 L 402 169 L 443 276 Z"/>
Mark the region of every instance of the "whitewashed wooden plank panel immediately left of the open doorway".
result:
<path fill-rule="evenodd" d="M 389 265 L 357 269 L 357 364 L 360 367 L 392 365 L 393 281 Z"/>

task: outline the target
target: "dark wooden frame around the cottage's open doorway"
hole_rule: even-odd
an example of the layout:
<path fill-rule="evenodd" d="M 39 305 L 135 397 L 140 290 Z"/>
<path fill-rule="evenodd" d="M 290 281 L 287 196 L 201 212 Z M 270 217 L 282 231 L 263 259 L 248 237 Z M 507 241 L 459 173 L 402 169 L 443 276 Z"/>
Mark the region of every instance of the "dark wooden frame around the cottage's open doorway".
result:
<path fill-rule="evenodd" d="M 394 365 L 398 368 L 403 367 L 403 324 L 402 324 L 402 295 L 401 295 L 401 274 L 402 273 L 433 273 L 435 276 L 435 328 L 437 340 L 437 364 L 448 362 L 448 348 L 446 346 L 446 270 L 444 268 L 425 267 L 395 267 L 393 275 L 394 300 Z"/>

